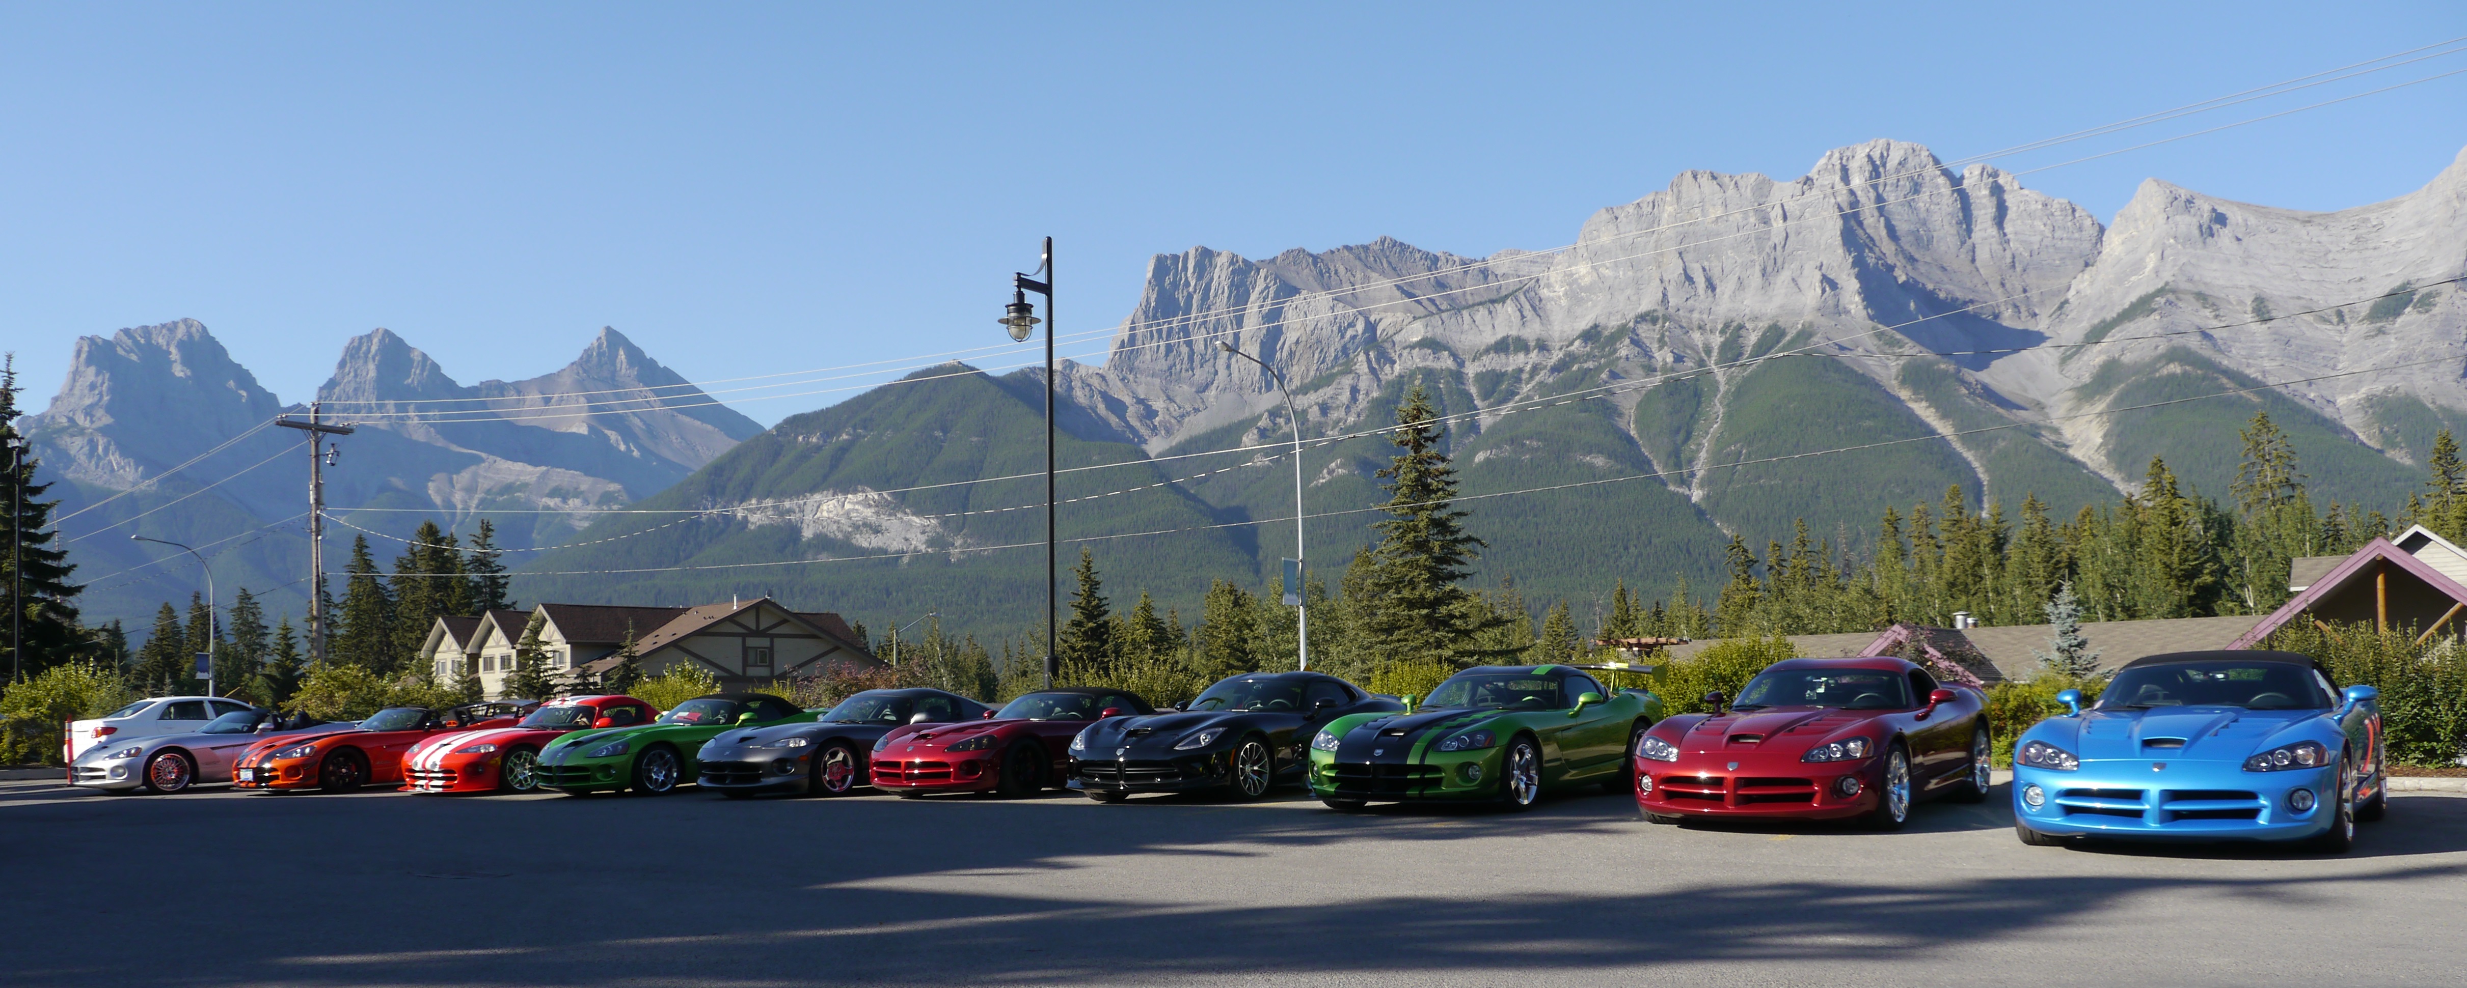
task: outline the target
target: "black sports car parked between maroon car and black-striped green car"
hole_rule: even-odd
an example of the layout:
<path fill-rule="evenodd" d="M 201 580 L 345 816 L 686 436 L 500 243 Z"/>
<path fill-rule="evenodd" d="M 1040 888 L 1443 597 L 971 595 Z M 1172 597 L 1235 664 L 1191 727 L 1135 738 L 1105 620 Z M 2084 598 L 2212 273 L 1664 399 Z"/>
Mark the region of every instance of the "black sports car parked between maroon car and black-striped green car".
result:
<path fill-rule="evenodd" d="M 1305 779 L 1320 724 L 1384 712 L 1404 705 L 1335 675 L 1234 675 L 1187 710 L 1088 724 L 1071 739 L 1071 788 L 1098 803 L 1219 786 L 1234 798 L 1261 798 L 1275 784 Z"/>

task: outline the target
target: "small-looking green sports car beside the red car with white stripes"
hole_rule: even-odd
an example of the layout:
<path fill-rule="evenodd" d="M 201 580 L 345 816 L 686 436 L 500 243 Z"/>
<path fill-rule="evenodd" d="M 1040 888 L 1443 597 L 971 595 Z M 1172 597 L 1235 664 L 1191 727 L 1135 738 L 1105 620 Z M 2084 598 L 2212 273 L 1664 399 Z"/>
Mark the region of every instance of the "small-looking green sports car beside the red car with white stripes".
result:
<path fill-rule="evenodd" d="M 540 788 L 567 796 L 632 788 L 659 796 L 701 774 L 693 754 L 710 737 L 745 724 L 770 727 L 822 717 L 767 692 L 693 697 L 639 727 L 575 732 L 540 749 Z"/>

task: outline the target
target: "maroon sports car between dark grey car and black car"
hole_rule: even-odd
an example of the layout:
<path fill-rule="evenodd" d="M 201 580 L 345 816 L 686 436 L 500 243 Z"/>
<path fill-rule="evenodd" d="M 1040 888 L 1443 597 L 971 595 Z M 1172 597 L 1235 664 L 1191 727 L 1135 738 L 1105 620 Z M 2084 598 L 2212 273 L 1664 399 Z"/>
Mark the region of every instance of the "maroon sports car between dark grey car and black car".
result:
<path fill-rule="evenodd" d="M 925 793 L 1026 796 L 1068 779 L 1071 739 L 1081 729 L 1155 707 L 1122 690 L 1044 690 L 1011 700 L 989 719 L 896 727 L 873 742 L 873 788 Z"/>

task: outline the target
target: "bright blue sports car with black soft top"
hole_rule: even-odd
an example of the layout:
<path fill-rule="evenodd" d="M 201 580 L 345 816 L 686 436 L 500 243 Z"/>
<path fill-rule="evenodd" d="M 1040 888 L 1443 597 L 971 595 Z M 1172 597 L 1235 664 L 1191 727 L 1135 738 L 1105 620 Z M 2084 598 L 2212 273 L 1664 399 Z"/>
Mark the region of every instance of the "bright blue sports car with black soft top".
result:
<path fill-rule="evenodd" d="M 2309 655 L 2168 653 L 2117 670 L 2099 705 L 2013 742 L 2013 833 L 2065 838 L 2309 840 L 2344 852 L 2388 803 L 2381 705 Z"/>

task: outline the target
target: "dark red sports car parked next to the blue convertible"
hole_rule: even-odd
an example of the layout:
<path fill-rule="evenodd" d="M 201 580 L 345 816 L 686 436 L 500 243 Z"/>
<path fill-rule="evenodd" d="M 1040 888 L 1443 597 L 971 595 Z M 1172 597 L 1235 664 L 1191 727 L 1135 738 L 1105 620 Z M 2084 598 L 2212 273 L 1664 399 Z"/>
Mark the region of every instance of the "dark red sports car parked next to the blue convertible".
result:
<path fill-rule="evenodd" d="M 1986 697 L 1900 658 L 1791 658 L 1715 715 L 1636 739 L 1636 806 L 1685 818 L 1863 818 L 1900 828 L 1927 796 L 1988 793 Z"/>

